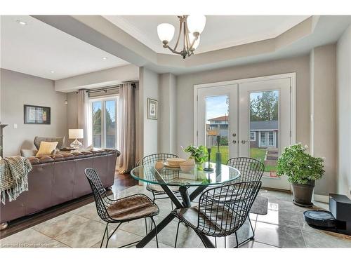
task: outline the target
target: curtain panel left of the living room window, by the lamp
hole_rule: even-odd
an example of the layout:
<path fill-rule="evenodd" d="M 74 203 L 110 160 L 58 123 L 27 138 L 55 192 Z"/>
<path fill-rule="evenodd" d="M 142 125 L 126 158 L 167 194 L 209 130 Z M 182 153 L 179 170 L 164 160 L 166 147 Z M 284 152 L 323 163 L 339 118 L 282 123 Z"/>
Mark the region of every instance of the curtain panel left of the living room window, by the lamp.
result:
<path fill-rule="evenodd" d="M 83 146 L 88 146 L 88 91 L 78 91 L 78 128 L 83 129 Z"/>

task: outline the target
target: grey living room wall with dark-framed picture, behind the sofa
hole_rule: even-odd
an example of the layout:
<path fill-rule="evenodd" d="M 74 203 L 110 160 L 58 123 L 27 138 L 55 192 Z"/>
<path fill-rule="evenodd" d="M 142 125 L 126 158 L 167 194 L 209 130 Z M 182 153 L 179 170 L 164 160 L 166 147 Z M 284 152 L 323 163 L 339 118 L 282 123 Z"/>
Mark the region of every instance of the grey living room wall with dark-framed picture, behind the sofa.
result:
<path fill-rule="evenodd" d="M 34 137 L 67 136 L 66 93 L 54 90 L 53 81 L 1 69 L 1 122 L 4 129 L 4 156 L 34 149 Z M 24 124 L 23 104 L 51 107 L 51 124 Z M 14 124 L 18 128 L 14 128 Z"/>

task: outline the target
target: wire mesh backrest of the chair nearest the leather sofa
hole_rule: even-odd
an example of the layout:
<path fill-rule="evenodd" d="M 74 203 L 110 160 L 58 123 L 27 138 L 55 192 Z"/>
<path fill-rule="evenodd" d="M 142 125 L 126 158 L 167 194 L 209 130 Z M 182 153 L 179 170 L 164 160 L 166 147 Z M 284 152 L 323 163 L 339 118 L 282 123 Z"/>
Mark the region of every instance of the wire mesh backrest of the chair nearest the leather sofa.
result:
<path fill-rule="evenodd" d="M 105 222 L 110 222 L 111 218 L 108 215 L 106 209 L 107 194 L 98 173 L 96 173 L 96 171 L 92 168 L 86 168 L 86 170 L 84 170 L 84 173 L 91 186 L 91 190 L 93 191 L 96 210 L 98 211 L 99 217 Z"/>

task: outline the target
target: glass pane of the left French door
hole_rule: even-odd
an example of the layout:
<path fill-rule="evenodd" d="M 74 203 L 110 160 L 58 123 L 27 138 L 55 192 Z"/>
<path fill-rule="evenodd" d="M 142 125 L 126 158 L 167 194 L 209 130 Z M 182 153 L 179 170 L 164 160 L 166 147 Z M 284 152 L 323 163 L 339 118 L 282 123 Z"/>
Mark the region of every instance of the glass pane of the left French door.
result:
<path fill-rule="evenodd" d="M 222 163 L 227 163 L 229 158 L 228 135 L 229 97 L 227 95 L 206 97 L 206 147 L 211 148 L 211 161 L 216 162 L 216 152 L 219 146 Z"/>

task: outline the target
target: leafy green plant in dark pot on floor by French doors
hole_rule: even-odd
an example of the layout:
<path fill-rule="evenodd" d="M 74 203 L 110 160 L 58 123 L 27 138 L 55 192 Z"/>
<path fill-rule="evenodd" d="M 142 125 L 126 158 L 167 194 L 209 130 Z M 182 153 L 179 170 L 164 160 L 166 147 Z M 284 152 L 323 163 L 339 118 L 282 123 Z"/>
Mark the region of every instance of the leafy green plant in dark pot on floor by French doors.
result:
<path fill-rule="evenodd" d="M 285 147 L 278 159 L 277 175 L 287 175 L 293 189 L 293 203 L 311 207 L 314 181 L 324 175 L 324 159 L 307 154 L 307 145 L 293 144 Z"/>

